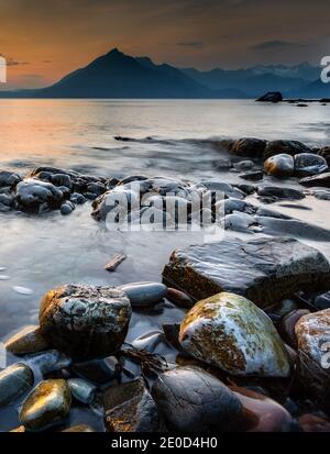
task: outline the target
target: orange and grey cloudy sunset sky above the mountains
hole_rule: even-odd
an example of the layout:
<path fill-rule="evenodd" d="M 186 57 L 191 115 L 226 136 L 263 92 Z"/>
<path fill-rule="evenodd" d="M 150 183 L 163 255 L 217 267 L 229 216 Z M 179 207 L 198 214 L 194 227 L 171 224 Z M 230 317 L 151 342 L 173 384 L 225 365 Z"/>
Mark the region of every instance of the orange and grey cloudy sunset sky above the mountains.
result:
<path fill-rule="evenodd" d="M 7 88 L 50 85 L 113 47 L 198 69 L 319 64 L 329 0 L 0 0 Z"/>

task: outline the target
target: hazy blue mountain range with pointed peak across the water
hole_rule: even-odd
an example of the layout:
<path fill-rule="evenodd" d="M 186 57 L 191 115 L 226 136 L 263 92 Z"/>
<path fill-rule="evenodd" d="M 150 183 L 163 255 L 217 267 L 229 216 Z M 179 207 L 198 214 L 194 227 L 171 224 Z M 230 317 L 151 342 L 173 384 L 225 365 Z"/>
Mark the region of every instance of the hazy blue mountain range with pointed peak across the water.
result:
<path fill-rule="evenodd" d="M 148 57 L 131 57 L 114 48 L 50 87 L 3 90 L 0 97 L 244 99 L 282 91 L 285 97 L 330 98 L 330 84 L 322 84 L 319 76 L 320 68 L 308 63 L 200 71 L 156 65 Z"/>

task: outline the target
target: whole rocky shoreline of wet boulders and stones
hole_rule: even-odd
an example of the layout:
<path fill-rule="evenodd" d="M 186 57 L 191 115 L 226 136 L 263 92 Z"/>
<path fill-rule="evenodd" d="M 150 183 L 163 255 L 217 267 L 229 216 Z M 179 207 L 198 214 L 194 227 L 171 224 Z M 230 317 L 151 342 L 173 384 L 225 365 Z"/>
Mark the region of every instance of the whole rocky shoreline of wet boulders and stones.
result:
<path fill-rule="evenodd" d="M 0 372 L 0 410 L 19 408 L 12 432 L 330 431 L 330 264 L 297 240 L 330 241 L 330 231 L 268 208 L 330 200 L 330 148 L 257 139 L 217 146 L 241 184 L 119 180 L 53 167 L 24 177 L 0 171 L 1 215 L 66 215 L 90 200 L 92 218 L 106 222 L 120 193 L 130 224 L 153 207 L 157 222 L 176 226 L 168 199 L 193 224 L 204 210 L 195 217 L 196 197 L 220 191 L 208 214 L 251 235 L 174 251 L 162 283 L 51 289 L 38 325 L 6 342 L 13 364 Z M 163 304 L 184 310 L 180 324 L 127 344 L 132 313 L 143 318 Z M 158 345 L 170 355 L 155 353 Z M 70 423 L 77 407 L 98 414 L 101 429 Z"/>

